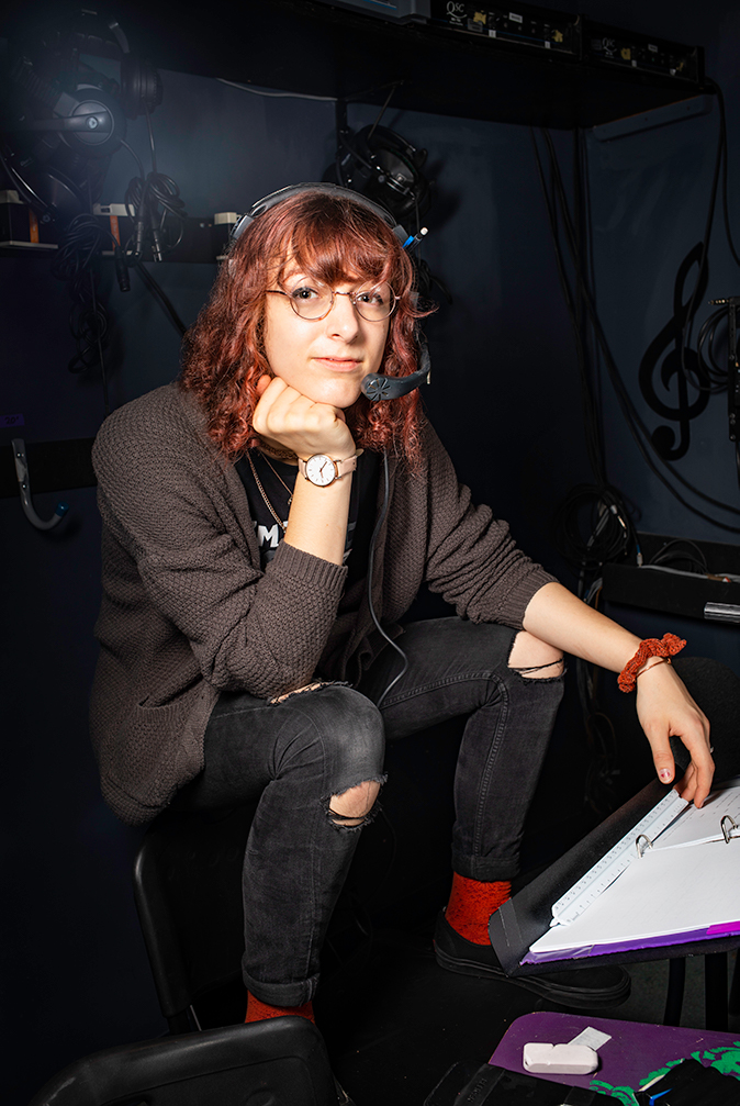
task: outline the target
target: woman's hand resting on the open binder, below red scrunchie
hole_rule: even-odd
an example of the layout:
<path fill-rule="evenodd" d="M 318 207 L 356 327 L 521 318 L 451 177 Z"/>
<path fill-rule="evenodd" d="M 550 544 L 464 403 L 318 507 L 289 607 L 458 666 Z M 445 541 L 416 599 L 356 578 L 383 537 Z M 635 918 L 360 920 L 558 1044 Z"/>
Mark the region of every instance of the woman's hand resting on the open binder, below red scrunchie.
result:
<path fill-rule="evenodd" d="M 637 717 L 663 783 L 670 783 L 676 772 L 668 738 L 680 738 L 691 761 L 677 790 L 681 799 L 692 800 L 695 806 L 701 806 L 715 773 L 709 720 L 671 665 L 653 661 L 637 677 Z"/>

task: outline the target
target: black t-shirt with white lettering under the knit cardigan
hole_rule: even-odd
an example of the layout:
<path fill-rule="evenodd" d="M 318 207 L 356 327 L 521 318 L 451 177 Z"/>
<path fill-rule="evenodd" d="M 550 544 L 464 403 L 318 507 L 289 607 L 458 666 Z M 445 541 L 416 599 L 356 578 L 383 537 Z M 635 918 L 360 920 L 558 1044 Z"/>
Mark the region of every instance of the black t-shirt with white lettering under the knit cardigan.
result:
<path fill-rule="evenodd" d="M 249 458 L 241 457 L 234 468 L 247 492 L 249 511 L 254 521 L 254 532 L 260 547 L 260 566 L 264 571 L 275 555 L 278 544 L 283 536 L 282 526 L 278 524 L 274 515 L 278 515 L 283 525 L 288 524 L 290 502 L 299 472 L 294 465 L 268 459 L 259 449 L 252 449 L 250 457 L 264 494 L 254 480 Z M 352 478 L 347 540 L 344 549 L 344 563 L 348 568 L 347 589 L 367 572 L 369 542 L 375 525 L 379 460 L 377 453 L 365 450 L 357 458 L 357 468 Z M 274 514 L 265 503 L 265 497 Z"/>

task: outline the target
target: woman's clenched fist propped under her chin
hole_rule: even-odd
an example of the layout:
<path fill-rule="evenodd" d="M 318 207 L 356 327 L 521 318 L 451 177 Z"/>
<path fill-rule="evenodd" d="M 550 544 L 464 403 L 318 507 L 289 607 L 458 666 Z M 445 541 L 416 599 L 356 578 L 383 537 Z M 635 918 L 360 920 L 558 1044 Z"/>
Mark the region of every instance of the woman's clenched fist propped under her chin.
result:
<path fill-rule="evenodd" d="M 257 390 L 252 426 L 268 449 L 277 442 L 303 460 L 314 453 L 337 461 L 354 455 L 355 442 L 341 408 L 314 403 L 277 376 L 260 377 Z"/>

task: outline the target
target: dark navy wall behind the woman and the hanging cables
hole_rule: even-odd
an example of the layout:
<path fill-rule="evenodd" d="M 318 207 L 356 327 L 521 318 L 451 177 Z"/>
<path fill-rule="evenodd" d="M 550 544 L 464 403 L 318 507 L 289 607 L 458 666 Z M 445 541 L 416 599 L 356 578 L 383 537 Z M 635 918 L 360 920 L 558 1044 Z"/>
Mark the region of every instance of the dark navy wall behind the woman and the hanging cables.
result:
<path fill-rule="evenodd" d="M 707 71 L 722 85 L 730 135 L 730 215 L 737 216 L 736 58 L 740 14 L 732 0 L 702 4 L 646 0 L 588 3 L 596 19 L 707 48 Z M 146 20 L 143 13 L 142 21 Z M 212 18 L 217 18 L 213 15 Z M 136 27 L 127 32 L 136 38 Z M 176 36 L 176 29 L 173 35 Z M 228 34 L 228 22 L 225 22 Z M 440 80 L 442 75 L 440 75 Z M 331 103 L 263 98 L 184 72 L 163 72 L 153 116 L 161 171 L 178 182 L 191 215 L 244 210 L 298 180 L 321 179 L 334 154 Z M 353 105 L 358 127 L 377 114 Z M 507 518 L 520 543 L 565 573 L 550 534 L 552 509 L 574 483 L 591 481 L 581 422 L 574 346 L 527 128 L 399 112 L 384 124 L 429 149 L 437 200 L 424 255 L 455 298 L 428 324 L 432 421 L 475 495 Z M 593 261 L 605 330 L 646 420 L 637 365 L 673 312 L 676 269 L 701 237 L 718 131 L 707 116 L 612 143 L 585 137 Z M 565 169 L 572 138 L 556 136 Z M 143 119 L 128 140 L 148 164 Z M 115 155 L 104 199 L 121 201 L 135 164 Z M 738 230 L 740 234 L 740 230 Z M 716 222 L 707 296 L 738 292 L 734 264 Z M 157 267 L 156 276 L 186 323 L 195 320 L 215 268 Z M 103 417 L 100 379 L 73 376 L 69 300 L 45 259 L 0 259 L 3 315 L 0 415 L 22 414 L 28 441 L 93 436 Z M 105 299 L 113 327 L 110 389 L 118 406 L 173 379 L 179 341 L 155 300 L 133 278 L 122 294 L 111 274 Z M 699 312 L 701 322 L 709 309 Z M 634 504 L 639 529 L 734 541 L 697 519 L 647 471 L 602 372 L 604 435 L 612 481 Z M 18 432 L 18 431 L 14 431 Z M 0 431 L 9 450 L 10 430 Z M 740 502 L 727 439 L 725 397 L 692 428 L 679 471 L 703 490 Z M 33 477 L 33 473 L 31 473 Z M 51 514 L 58 495 L 35 497 Z M 129 891 L 140 834 L 100 799 L 88 750 L 86 700 L 95 664 L 100 522 L 93 489 L 65 492 L 70 515 L 51 533 L 0 500 L 3 611 L 3 843 L 7 936 L 2 1040 L 10 1045 L 8 1102 L 27 1102 L 53 1072 L 107 1045 L 161 1033 Z M 731 522 L 731 517 L 722 515 Z M 740 672 L 736 630 L 668 616 L 619 613 L 640 633 L 674 629 L 690 648 Z"/>

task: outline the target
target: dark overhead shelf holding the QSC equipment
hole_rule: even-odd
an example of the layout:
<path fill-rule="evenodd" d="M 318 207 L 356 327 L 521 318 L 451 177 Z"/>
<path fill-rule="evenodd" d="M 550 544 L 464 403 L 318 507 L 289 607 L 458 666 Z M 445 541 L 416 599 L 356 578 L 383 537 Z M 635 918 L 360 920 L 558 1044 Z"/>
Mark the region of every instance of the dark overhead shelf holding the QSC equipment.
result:
<path fill-rule="evenodd" d="M 157 67 L 314 96 L 554 128 L 591 127 L 696 96 L 700 84 L 550 56 L 429 24 L 397 24 L 309 0 L 262 0 L 216 11 L 119 0 L 135 53 Z M 23 9 L 4 23 L 28 30 Z M 545 56 L 545 54 L 548 56 Z"/>

